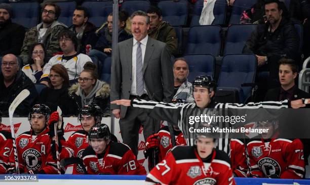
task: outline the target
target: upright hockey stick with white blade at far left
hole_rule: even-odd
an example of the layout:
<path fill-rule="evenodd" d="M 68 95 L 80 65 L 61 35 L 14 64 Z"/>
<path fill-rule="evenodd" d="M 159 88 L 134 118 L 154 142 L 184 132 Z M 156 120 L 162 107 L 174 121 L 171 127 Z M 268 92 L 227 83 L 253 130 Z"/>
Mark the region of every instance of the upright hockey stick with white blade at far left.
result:
<path fill-rule="evenodd" d="M 15 159 L 15 167 L 16 167 L 16 173 L 17 174 L 19 174 L 19 168 L 18 168 L 16 141 L 15 141 L 15 131 L 14 131 L 14 124 L 13 124 L 13 114 L 15 112 L 15 109 L 18 107 L 18 105 L 22 101 L 24 101 L 29 95 L 30 95 L 30 92 L 28 89 L 22 90 L 17 95 L 17 97 L 14 99 L 14 101 L 12 102 L 12 104 L 9 107 L 10 126 L 11 126 L 11 134 L 12 134 L 12 139 L 13 139 L 14 159 Z"/>

